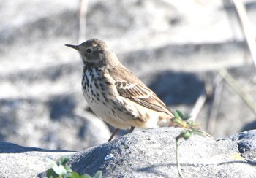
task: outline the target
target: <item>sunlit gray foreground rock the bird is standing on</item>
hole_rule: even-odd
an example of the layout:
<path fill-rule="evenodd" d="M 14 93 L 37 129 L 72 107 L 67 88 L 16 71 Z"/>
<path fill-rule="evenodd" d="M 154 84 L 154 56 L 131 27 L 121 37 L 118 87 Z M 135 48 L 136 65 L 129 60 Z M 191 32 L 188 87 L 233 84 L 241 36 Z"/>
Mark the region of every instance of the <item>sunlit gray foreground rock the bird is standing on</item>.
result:
<path fill-rule="evenodd" d="M 72 155 L 70 164 L 80 174 L 102 170 L 103 177 L 178 177 L 175 137 L 180 131 L 158 128 L 130 133 Z M 255 142 L 256 130 L 250 132 L 238 135 L 254 135 L 248 139 Z M 178 154 L 184 177 L 255 177 L 255 160 L 241 155 L 234 140 L 237 137 L 216 141 L 192 136 L 182 141 Z M 255 158 L 255 147 L 249 153 Z"/>

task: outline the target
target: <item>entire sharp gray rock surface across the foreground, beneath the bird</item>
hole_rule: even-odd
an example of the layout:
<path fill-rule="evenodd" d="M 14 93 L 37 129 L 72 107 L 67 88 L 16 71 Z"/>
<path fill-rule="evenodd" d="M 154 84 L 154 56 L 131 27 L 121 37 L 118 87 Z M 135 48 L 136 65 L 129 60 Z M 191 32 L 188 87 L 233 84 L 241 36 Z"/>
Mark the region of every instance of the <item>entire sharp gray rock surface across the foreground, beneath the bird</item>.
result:
<path fill-rule="evenodd" d="M 44 177 L 45 158 L 71 156 L 69 165 L 80 174 L 103 177 L 178 177 L 176 139 L 180 128 L 135 131 L 80 152 L 44 150 L 0 143 L 0 177 Z M 192 136 L 181 140 L 178 156 L 184 177 L 255 177 L 256 130 L 225 139 Z"/>

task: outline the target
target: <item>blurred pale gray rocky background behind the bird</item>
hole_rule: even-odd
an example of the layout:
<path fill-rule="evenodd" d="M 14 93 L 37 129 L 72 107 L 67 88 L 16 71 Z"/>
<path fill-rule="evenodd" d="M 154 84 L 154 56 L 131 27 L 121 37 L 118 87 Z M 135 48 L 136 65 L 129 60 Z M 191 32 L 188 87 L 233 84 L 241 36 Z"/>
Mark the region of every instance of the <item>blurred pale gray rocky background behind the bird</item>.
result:
<path fill-rule="evenodd" d="M 1 0 L 0 141 L 82 150 L 108 140 L 83 98 L 80 56 L 64 46 L 91 38 L 213 136 L 256 128 L 242 26 L 248 18 L 255 42 L 256 1 L 240 2 L 244 19 L 231 0 Z"/>

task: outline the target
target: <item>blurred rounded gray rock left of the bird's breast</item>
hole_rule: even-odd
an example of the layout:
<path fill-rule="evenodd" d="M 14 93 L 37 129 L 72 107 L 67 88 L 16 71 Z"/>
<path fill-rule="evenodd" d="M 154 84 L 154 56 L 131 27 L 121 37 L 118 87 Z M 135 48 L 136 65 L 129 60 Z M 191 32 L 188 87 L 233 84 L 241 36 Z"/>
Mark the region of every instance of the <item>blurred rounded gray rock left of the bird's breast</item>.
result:
<path fill-rule="evenodd" d="M 82 150 L 106 142 L 110 130 L 90 112 L 74 109 L 72 95 L 0 100 L 0 139 L 23 145 Z M 40 118 L 40 119 L 37 119 Z"/>

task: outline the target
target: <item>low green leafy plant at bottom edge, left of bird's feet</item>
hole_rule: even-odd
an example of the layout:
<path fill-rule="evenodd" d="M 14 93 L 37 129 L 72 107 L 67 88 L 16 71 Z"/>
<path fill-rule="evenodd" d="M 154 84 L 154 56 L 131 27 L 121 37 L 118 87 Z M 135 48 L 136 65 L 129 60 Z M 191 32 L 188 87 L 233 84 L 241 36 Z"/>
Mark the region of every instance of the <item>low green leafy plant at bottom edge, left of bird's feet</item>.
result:
<path fill-rule="evenodd" d="M 79 175 L 77 172 L 72 171 L 72 169 L 67 166 L 69 157 L 61 157 L 56 163 L 54 160 L 46 158 L 48 163 L 52 166 L 51 169 L 46 171 L 46 177 L 48 178 L 101 178 L 102 171 L 97 171 L 97 173 L 91 177 L 88 174 Z"/>

